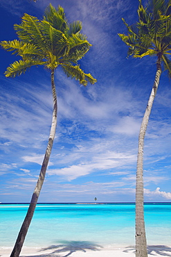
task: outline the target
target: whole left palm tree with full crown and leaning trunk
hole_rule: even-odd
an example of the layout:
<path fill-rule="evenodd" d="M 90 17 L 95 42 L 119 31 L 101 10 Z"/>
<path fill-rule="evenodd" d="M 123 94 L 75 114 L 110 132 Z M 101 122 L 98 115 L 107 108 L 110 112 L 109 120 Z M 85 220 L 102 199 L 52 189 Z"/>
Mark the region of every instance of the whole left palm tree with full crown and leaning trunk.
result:
<path fill-rule="evenodd" d="M 55 138 L 55 128 L 57 124 L 57 96 L 54 81 L 55 69 L 60 65 L 67 76 L 75 78 L 84 86 L 86 86 L 88 82 L 91 84 L 95 83 L 96 79 L 93 78 L 91 74 L 85 74 L 78 65 L 78 60 L 80 60 L 91 47 L 86 36 L 80 33 L 82 24 L 79 21 L 68 24 L 64 9 L 61 6 L 56 10 L 50 4 L 50 6 L 46 8 L 44 19 L 42 20 L 25 14 L 24 17 L 22 17 L 21 24 L 15 24 L 14 28 L 17 31 L 19 40 L 3 41 L 1 42 L 1 46 L 7 51 L 17 53 L 18 56 L 21 56 L 21 60 L 15 61 L 15 63 L 12 63 L 7 68 L 5 72 L 6 76 L 19 76 L 33 65 L 44 65 L 46 69 L 51 71 L 51 87 L 53 93 L 53 118 L 46 153 L 28 212 L 19 231 L 15 247 L 10 255 L 11 257 L 18 257 L 35 211 L 39 193 L 44 183 L 46 168 Z"/>

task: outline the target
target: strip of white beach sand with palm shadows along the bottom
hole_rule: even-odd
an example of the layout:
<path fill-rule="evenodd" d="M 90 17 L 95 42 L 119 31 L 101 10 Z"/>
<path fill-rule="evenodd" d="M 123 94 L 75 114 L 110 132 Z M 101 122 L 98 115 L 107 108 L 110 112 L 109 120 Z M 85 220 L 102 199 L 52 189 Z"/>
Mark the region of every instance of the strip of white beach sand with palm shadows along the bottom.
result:
<path fill-rule="evenodd" d="M 12 248 L 0 247 L 0 256 L 9 257 Z M 134 257 L 135 248 L 113 248 L 113 249 L 66 249 L 64 247 L 51 246 L 47 248 L 28 248 L 24 247 L 20 256 L 29 257 Z M 148 256 L 171 256 L 171 247 L 165 245 L 152 245 L 148 247 Z"/>

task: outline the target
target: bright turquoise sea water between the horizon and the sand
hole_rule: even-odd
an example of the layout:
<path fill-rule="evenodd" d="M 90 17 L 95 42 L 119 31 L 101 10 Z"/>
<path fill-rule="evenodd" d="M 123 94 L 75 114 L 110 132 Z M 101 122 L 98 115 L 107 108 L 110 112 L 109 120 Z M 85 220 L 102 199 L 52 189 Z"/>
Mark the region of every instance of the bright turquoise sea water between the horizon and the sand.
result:
<path fill-rule="evenodd" d="M 0 204 L 0 247 L 12 247 L 28 204 Z M 37 204 L 24 246 L 89 241 L 134 245 L 134 204 Z M 171 244 L 171 203 L 145 204 L 147 244 Z"/>

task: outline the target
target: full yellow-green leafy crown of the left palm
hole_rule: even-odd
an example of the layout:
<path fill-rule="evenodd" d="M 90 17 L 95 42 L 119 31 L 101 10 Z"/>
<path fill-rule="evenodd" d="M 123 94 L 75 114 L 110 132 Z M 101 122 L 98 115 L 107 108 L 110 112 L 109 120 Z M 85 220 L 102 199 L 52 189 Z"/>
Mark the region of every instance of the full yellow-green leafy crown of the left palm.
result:
<path fill-rule="evenodd" d="M 56 10 L 50 4 L 42 20 L 25 14 L 21 24 L 15 24 L 14 28 L 19 40 L 3 41 L 1 46 L 22 59 L 7 68 L 6 76 L 19 76 L 33 65 L 44 65 L 51 70 L 61 65 L 67 76 L 75 77 L 82 85 L 96 82 L 78 65 L 78 60 L 91 47 L 86 36 L 80 33 L 82 24 L 80 21 L 69 24 L 61 6 Z"/>

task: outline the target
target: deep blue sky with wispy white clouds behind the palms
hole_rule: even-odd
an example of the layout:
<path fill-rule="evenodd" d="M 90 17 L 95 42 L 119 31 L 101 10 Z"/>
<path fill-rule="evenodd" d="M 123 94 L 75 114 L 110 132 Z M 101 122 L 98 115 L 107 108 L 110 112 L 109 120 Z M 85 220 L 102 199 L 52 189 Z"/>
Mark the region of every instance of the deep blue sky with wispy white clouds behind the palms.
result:
<path fill-rule="evenodd" d="M 135 201 L 138 132 L 153 85 L 156 58 L 127 59 L 118 33 L 137 20 L 138 0 L 1 0 L 0 40 L 17 38 L 13 25 L 24 13 L 42 18 L 60 4 L 69 22 L 82 21 L 93 45 L 80 61 L 98 80 L 87 88 L 55 72 L 58 119 L 39 202 Z M 17 58 L 0 49 L 0 201 L 29 202 L 51 126 L 50 73 L 32 67 L 16 78 L 3 75 Z M 144 149 L 145 201 L 170 201 L 171 87 L 163 72 Z"/>

